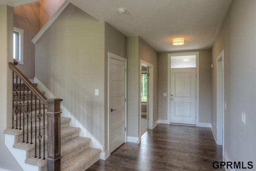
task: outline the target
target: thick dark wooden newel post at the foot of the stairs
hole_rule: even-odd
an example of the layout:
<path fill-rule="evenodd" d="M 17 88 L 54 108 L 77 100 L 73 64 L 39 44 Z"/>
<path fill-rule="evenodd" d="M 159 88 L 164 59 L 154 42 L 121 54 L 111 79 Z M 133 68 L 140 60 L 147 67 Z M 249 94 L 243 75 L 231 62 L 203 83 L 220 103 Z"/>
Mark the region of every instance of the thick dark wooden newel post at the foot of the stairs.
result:
<path fill-rule="evenodd" d="M 48 171 L 60 171 L 60 102 L 46 99 L 48 103 Z"/>

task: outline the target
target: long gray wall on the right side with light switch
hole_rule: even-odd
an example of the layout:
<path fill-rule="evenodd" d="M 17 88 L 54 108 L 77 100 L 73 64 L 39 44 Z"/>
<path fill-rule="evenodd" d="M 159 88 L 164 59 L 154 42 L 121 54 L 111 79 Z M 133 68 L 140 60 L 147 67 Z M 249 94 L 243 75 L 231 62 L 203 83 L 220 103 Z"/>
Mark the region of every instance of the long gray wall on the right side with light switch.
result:
<path fill-rule="evenodd" d="M 224 49 L 224 138 L 231 161 L 256 162 L 256 1 L 233 0 L 212 48 L 212 63 Z M 241 122 L 246 113 L 246 125 Z M 212 125 L 216 122 L 216 68 L 212 71 Z"/>

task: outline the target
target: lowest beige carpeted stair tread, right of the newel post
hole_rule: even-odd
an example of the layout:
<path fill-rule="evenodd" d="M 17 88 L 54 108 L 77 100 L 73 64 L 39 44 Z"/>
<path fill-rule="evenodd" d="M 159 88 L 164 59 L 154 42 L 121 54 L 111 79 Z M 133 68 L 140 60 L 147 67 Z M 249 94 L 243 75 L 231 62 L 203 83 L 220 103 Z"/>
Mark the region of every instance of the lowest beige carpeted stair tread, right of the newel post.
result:
<path fill-rule="evenodd" d="M 100 159 L 100 149 L 87 148 L 62 163 L 61 171 L 85 171 Z"/>

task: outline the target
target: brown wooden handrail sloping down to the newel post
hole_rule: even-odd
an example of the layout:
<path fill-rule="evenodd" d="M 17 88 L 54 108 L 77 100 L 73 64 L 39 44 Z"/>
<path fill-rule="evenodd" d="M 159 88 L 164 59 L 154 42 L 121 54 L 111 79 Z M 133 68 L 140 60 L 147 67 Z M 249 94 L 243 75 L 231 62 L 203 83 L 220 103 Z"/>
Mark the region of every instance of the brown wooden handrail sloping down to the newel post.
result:
<path fill-rule="evenodd" d="M 25 83 L 28 88 L 38 97 L 42 103 L 44 103 L 46 106 L 48 106 L 48 103 L 46 102 L 46 97 L 26 78 L 24 74 L 16 67 L 12 62 L 9 62 L 9 68 Z"/>

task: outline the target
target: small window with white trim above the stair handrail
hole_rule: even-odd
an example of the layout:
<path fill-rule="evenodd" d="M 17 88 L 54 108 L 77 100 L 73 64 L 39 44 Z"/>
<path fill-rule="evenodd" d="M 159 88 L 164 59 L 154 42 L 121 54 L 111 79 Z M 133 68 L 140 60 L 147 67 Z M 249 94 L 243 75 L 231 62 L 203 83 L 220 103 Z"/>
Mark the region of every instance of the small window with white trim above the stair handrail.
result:
<path fill-rule="evenodd" d="M 13 28 L 13 58 L 23 64 L 23 34 L 24 30 Z"/>

